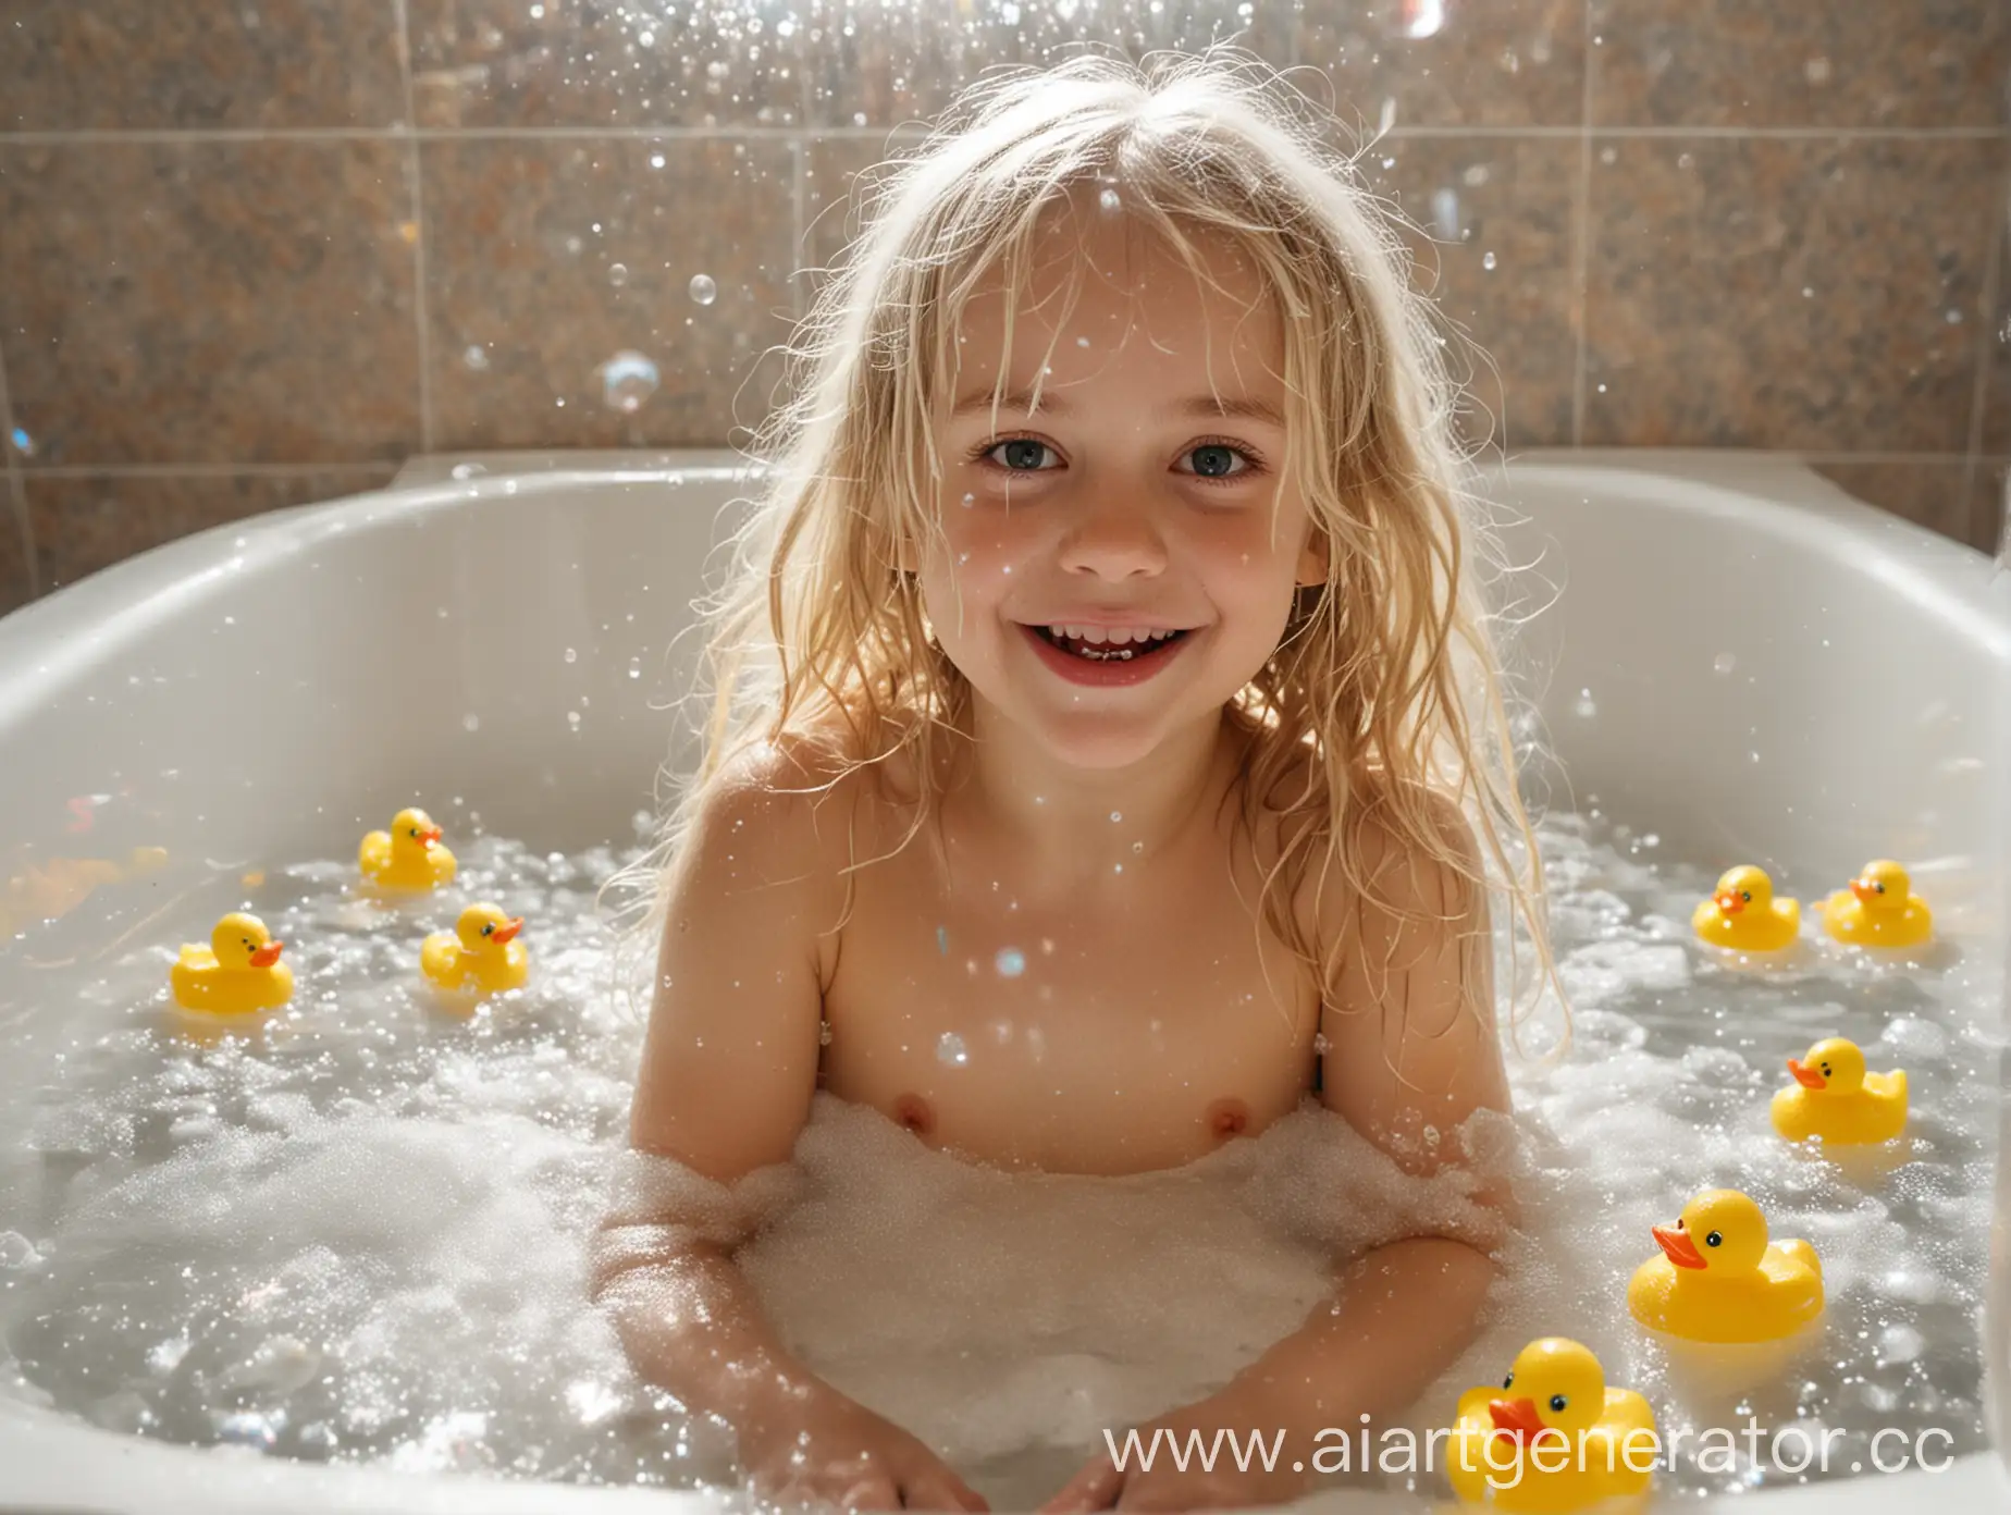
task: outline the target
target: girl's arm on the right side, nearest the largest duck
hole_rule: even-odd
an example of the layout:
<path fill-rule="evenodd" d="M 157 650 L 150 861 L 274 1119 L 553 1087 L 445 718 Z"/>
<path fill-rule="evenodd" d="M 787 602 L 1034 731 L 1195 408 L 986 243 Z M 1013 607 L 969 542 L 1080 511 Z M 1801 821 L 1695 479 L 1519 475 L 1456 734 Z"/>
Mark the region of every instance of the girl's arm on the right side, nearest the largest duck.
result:
<path fill-rule="evenodd" d="M 1474 865 L 1472 833 L 1450 805 L 1440 821 Z M 1345 964 L 1321 1008 L 1327 1038 L 1321 1099 L 1406 1171 L 1420 1177 L 1466 1153 L 1460 1129 L 1486 1107 L 1508 1109 L 1508 1080 L 1494 1034 L 1492 940 L 1486 891 L 1452 865 L 1398 845 L 1363 823 L 1363 875 L 1374 897 L 1333 899 L 1307 923 Z M 1335 889 L 1335 895 L 1349 893 Z M 1512 1219 L 1506 1191 L 1476 1195 L 1500 1225 Z M 1285 1433 L 1273 1469 L 1120 1471 L 1090 1463 L 1046 1511 L 1203 1509 L 1291 1499 L 1305 1487 L 1329 1426 L 1357 1433 L 1361 1416 L 1400 1412 L 1466 1348 L 1494 1282 L 1480 1247 L 1420 1233 L 1353 1259 L 1333 1294 L 1291 1336 L 1275 1342 L 1219 1392 L 1140 1428 L 1164 1426 L 1178 1445 L 1201 1433 L 1257 1430 L 1267 1447 Z"/>

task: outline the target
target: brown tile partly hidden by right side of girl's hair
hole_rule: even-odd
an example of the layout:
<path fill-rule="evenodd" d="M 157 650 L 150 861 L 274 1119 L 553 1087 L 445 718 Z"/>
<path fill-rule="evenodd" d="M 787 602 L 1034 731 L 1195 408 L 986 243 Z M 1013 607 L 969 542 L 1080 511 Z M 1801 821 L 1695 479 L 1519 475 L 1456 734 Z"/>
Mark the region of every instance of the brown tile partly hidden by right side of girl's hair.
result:
<path fill-rule="evenodd" d="M 1571 443 L 1579 145 L 1408 137 L 1361 169 L 1414 223 L 1416 284 L 1480 346 L 1450 352 L 1470 382 L 1468 435 L 1510 449 Z"/>

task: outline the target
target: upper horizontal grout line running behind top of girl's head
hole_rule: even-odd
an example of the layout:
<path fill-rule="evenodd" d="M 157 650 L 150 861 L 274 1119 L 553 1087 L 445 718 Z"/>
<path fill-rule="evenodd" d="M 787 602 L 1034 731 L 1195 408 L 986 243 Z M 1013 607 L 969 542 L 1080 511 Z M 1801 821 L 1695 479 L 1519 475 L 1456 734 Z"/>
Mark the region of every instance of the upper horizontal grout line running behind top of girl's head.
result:
<path fill-rule="evenodd" d="M 402 0 L 400 0 L 402 2 Z M 1587 68 L 1591 74 L 1591 68 Z M 915 123 L 851 127 L 851 125 L 798 125 L 798 127 L 288 127 L 288 129 L 107 129 L 107 131 L 0 131 L 0 147 L 66 147 L 76 143 L 237 143 L 237 141 L 402 141 L 456 143 L 456 141 L 511 141 L 511 139 L 633 139 L 633 141 L 718 141 L 718 139 L 794 139 L 833 137 L 885 141 L 901 135 Z M 1454 127 L 1454 125 L 1398 125 L 1388 137 L 1579 137 L 1593 131 L 1599 137 L 1621 139 L 1711 139 L 1733 141 L 1997 141 L 2003 127 L 1587 127 L 1587 125 L 1520 125 L 1520 127 Z"/>

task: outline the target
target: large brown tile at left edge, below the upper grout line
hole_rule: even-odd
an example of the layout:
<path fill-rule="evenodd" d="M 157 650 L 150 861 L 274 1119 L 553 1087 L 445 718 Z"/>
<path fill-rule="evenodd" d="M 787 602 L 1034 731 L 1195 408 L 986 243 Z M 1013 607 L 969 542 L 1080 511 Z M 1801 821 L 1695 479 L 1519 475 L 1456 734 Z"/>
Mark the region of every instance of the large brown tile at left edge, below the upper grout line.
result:
<path fill-rule="evenodd" d="M 418 445 L 404 149 L 0 141 L 0 346 L 36 463 Z"/>

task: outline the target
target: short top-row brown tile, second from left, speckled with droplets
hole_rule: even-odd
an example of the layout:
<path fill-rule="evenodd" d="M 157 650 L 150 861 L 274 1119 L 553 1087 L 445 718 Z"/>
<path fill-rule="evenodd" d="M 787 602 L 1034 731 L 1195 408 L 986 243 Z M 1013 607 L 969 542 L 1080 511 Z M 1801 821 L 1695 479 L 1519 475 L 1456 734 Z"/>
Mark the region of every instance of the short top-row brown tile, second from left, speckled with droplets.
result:
<path fill-rule="evenodd" d="M 800 6 L 408 0 L 424 127 L 794 127 Z"/>

